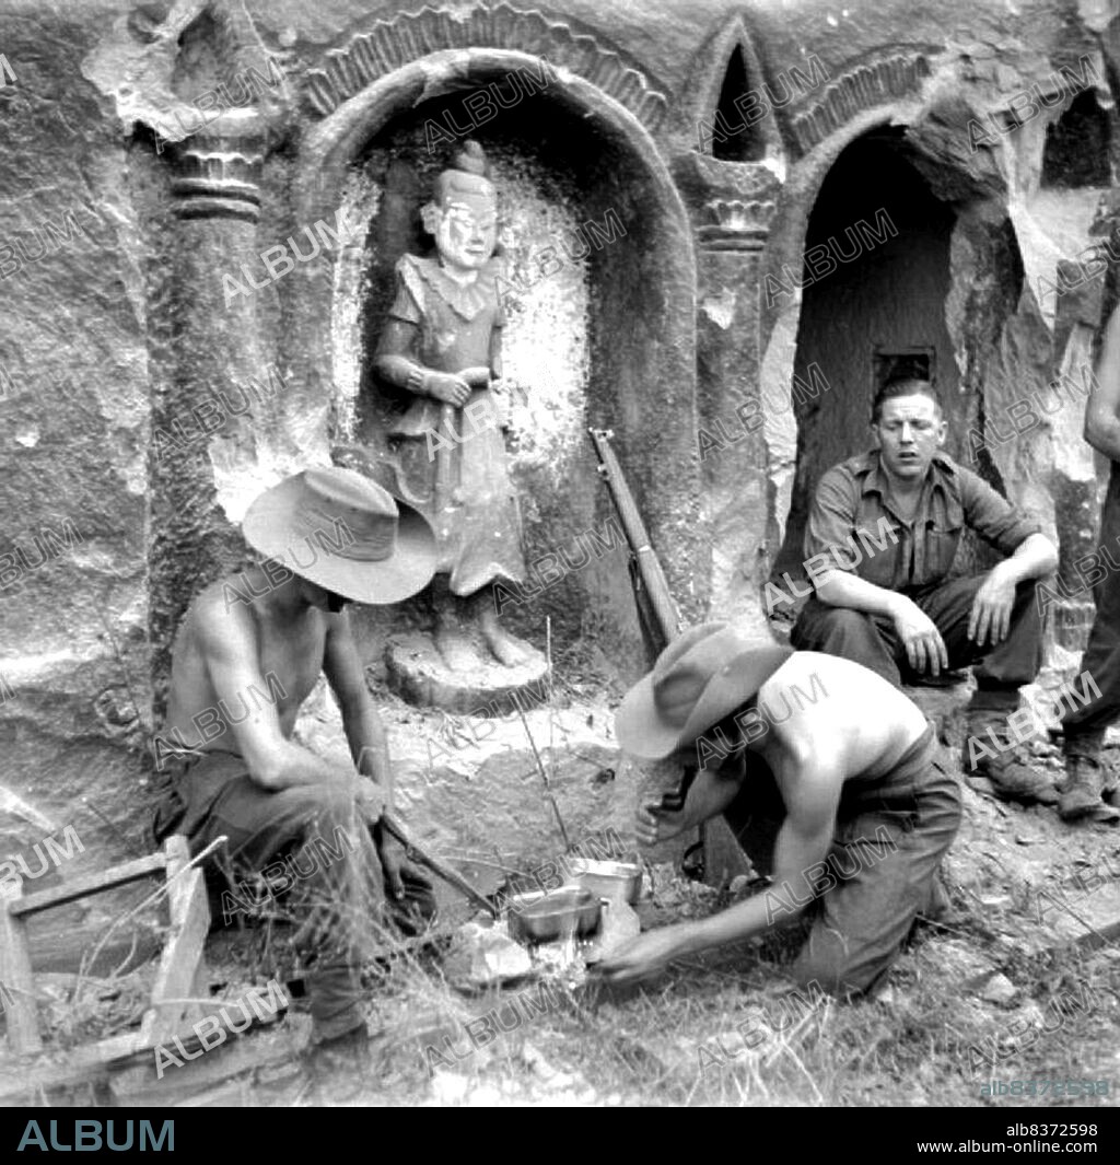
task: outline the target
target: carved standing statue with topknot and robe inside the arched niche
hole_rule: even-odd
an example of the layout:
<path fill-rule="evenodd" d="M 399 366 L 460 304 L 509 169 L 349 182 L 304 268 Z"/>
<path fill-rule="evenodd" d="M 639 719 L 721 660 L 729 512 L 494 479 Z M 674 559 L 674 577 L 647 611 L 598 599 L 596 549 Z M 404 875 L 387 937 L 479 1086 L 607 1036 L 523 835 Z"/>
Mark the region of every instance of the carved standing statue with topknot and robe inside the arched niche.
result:
<path fill-rule="evenodd" d="M 402 486 L 439 542 L 435 645 L 452 672 L 496 663 L 539 675 L 540 654 L 501 626 L 492 594 L 522 581 L 525 564 L 505 454 L 497 200 L 477 142 L 437 177 L 421 218 L 437 255 L 397 263 L 374 367 L 412 397 L 389 437 Z"/>

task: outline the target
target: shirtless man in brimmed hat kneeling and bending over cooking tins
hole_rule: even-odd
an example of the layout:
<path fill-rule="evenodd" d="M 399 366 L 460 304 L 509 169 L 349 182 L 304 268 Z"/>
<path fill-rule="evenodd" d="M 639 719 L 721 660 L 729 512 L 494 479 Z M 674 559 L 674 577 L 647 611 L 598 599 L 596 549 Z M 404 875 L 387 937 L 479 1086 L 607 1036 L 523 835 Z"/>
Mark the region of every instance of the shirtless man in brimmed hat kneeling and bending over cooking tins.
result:
<path fill-rule="evenodd" d="M 808 939 L 791 968 L 800 983 L 841 997 L 880 986 L 931 904 L 960 820 L 957 782 L 910 700 L 860 664 L 759 648 L 706 623 L 661 652 L 615 728 L 635 756 L 701 761 L 682 810 L 639 809 L 639 840 L 666 841 L 723 813 L 772 885 L 639 935 L 600 965 L 605 981 L 638 981 L 804 915 Z"/>

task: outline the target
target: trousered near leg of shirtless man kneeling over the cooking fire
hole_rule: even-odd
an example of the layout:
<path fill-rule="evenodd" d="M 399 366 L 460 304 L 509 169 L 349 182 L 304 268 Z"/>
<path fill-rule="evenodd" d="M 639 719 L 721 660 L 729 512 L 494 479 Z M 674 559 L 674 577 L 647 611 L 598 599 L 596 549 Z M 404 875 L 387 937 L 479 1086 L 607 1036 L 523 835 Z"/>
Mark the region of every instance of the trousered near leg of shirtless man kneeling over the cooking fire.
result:
<path fill-rule="evenodd" d="M 960 824 L 960 792 L 933 729 L 888 777 L 845 797 L 841 814 L 818 912 L 792 970 L 849 997 L 876 988 L 898 958 Z"/>

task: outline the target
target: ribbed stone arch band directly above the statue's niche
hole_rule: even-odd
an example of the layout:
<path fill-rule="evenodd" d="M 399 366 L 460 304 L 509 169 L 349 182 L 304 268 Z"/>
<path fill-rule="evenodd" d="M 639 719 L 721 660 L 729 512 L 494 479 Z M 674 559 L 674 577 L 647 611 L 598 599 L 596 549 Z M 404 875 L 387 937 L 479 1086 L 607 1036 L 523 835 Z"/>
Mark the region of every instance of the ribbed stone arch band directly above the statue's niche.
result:
<path fill-rule="evenodd" d="M 668 99 L 635 63 L 570 23 L 510 5 L 475 8 L 461 14 L 421 8 L 391 20 L 374 21 L 368 31 L 329 49 L 322 68 L 306 76 L 312 110 L 326 116 L 367 85 L 420 57 L 448 49 L 498 48 L 547 58 L 597 85 L 630 110 L 648 129 L 661 126 Z"/>

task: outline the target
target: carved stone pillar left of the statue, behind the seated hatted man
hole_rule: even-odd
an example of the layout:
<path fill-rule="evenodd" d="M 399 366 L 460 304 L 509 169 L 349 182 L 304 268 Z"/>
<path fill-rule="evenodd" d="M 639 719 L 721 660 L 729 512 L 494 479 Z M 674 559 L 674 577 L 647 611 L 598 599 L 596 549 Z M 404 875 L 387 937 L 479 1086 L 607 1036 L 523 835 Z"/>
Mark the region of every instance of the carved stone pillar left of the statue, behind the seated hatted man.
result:
<path fill-rule="evenodd" d="M 261 268 L 264 141 L 256 111 L 229 110 L 170 151 L 176 231 L 163 249 L 173 356 L 153 401 L 149 459 L 150 630 L 160 691 L 186 605 L 242 552 L 240 534 L 217 504 L 210 449 L 242 423 L 222 402 L 236 400 L 234 386 L 258 375 L 262 363 L 256 299 L 234 295 L 227 303 L 222 276 L 241 282 L 242 263 Z"/>

